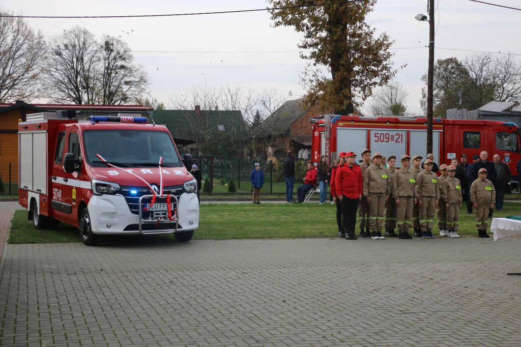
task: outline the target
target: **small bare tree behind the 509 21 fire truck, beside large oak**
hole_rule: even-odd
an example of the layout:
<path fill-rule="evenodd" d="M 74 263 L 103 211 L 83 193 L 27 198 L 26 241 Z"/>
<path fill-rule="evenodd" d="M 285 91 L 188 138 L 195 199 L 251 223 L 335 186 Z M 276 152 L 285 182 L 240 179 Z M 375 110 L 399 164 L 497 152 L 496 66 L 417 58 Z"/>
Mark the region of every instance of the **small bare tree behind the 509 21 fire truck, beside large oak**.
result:
<path fill-rule="evenodd" d="M 368 105 L 372 116 L 407 116 L 407 96 L 409 92 L 400 83 L 384 85 L 373 94 Z"/>

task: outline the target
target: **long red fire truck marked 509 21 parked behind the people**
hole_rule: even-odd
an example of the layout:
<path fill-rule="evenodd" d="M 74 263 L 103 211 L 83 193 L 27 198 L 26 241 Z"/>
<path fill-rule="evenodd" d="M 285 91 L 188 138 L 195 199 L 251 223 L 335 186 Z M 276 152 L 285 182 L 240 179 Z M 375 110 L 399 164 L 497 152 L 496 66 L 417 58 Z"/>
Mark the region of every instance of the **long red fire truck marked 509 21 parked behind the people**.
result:
<path fill-rule="evenodd" d="M 410 117 L 358 117 L 324 115 L 310 119 L 313 126 L 312 160 L 321 155 L 329 161 L 338 153 L 353 151 L 360 155 L 364 148 L 385 156 L 395 155 L 400 166 L 403 154 L 427 154 L 427 119 Z M 432 154 L 435 161 L 449 165 L 452 158 L 466 154 L 470 164 L 474 155 L 489 153 L 489 160 L 499 154 L 516 175 L 521 159 L 518 128 L 514 123 L 492 120 L 433 120 Z M 361 157 L 357 157 L 361 161 Z"/>

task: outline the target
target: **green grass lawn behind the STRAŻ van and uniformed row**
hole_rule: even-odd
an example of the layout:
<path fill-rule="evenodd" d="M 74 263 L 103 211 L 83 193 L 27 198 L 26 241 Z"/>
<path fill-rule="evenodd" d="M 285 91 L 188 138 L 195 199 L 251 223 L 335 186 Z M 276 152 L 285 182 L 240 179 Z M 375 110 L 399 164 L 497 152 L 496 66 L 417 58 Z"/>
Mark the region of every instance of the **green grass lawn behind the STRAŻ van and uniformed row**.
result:
<path fill-rule="evenodd" d="M 337 236 L 336 207 L 309 204 L 204 204 L 201 205 L 199 229 L 194 240 L 323 238 Z M 505 202 L 502 212 L 494 217 L 521 215 L 521 204 Z M 489 220 L 490 224 L 491 220 Z M 358 229 L 357 229 L 358 233 Z M 438 234 L 435 226 L 433 233 Z M 475 215 L 467 215 L 465 204 L 460 214 L 462 236 L 477 236 Z M 117 241 L 123 237 L 102 237 L 100 241 Z M 133 238 L 133 237 L 132 237 Z M 146 236 L 153 239 L 175 239 L 172 234 Z M 60 243 L 81 242 L 77 229 L 61 223 L 56 230 L 35 230 L 27 220 L 27 211 L 15 213 L 8 242 Z"/>

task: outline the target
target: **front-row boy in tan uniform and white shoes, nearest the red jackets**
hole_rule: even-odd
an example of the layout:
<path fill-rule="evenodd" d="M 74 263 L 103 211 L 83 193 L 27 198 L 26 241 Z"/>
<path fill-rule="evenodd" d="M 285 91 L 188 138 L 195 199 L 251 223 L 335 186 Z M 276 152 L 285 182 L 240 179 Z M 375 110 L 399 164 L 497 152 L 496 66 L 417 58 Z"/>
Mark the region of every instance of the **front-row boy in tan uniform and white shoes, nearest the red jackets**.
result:
<path fill-rule="evenodd" d="M 371 239 L 383 240 L 383 213 L 386 202 L 392 190 L 392 180 L 389 179 L 387 169 L 381 165 L 382 155 L 373 155 L 373 165 L 365 170 L 364 197 L 369 205 L 369 228 Z"/>

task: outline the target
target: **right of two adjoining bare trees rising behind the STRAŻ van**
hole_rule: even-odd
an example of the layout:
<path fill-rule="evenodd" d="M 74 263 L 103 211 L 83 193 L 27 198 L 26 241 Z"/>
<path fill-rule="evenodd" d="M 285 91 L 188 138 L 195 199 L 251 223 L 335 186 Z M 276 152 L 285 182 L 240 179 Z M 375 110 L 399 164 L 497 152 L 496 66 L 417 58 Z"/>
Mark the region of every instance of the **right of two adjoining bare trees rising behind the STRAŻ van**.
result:
<path fill-rule="evenodd" d="M 137 101 L 149 84 L 146 72 L 134 64 L 130 47 L 123 41 L 109 36 L 100 51 L 103 72 L 98 76 L 97 102 L 102 105 L 119 105 Z"/>

